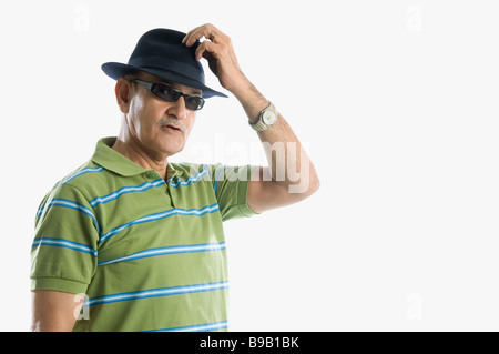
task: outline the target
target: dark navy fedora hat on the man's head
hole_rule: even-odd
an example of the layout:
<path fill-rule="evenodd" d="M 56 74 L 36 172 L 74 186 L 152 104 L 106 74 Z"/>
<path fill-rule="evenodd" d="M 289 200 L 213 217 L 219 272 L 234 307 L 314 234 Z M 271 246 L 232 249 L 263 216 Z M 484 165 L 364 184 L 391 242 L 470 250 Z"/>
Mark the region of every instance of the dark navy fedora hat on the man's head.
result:
<path fill-rule="evenodd" d="M 195 59 L 198 41 L 187 48 L 182 43 L 184 37 L 185 33 L 174 30 L 151 30 L 139 39 L 128 64 L 106 62 L 102 64 L 102 70 L 114 80 L 128 73 L 144 71 L 165 81 L 200 89 L 203 98 L 226 98 L 227 95 L 204 84 L 203 67 Z"/>

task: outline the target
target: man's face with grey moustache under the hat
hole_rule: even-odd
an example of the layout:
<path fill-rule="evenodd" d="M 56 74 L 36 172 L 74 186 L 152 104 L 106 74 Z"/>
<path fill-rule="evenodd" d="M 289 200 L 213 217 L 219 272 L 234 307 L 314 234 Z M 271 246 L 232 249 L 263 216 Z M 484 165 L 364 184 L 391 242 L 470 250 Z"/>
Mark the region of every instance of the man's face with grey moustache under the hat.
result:
<path fill-rule="evenodd" d="M 176 90 L 192 95 L 202 94 L 201 90 L 180 83 L 165 82 L 161 79 L 141 72 L 135 79 L 169 84 Z M 173 155 L 181 152 L 194 125 L 196 111 L 185 107 L 183 97 L 176 102 L 166 102 L 150 90 L 132 82 L 130 110 L 126 117 L 129 133 L 141 148 L 153 155 Z"/>

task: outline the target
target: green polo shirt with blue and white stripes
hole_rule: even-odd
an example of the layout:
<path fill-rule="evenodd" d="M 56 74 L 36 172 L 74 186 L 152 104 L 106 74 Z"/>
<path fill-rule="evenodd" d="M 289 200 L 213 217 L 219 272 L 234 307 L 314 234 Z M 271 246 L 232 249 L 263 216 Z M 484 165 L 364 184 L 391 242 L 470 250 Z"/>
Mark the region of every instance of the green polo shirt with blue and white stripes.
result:
<path fill-rule="evenodd" d="M 32 290 L 84 294 L 74 331 L 224 331 L 222 222 L 254 213 L 254 168 L 170 163 L 167 183 L 99 141 L 43 199 Z"/>

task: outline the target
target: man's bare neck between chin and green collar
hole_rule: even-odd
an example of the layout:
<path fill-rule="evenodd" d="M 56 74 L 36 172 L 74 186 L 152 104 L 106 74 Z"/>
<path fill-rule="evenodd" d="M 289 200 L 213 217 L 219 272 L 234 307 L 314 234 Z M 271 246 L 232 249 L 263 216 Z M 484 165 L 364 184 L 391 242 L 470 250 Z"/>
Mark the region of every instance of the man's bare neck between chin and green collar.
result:
<path fill-rule="evenodd" d="M 112 149 L 146 170 L 155 170 L 163 180 L 166 180 L 167 156 L 156 156 L 133 139 L 123 139 L 122 134 L 118 136 Z"/>

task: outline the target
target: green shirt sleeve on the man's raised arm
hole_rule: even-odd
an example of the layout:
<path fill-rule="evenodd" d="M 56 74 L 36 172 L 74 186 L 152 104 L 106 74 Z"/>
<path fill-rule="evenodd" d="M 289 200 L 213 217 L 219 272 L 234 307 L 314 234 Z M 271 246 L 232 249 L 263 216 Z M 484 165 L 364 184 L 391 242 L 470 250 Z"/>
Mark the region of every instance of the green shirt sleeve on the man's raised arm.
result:
<path fill-rule="evenodd" d="M 211 165 L 213 189 L 215 191 L 222 221 L 255 215 L 247 205 L 247 189 L 253 165 L 227 166 Z"/>

